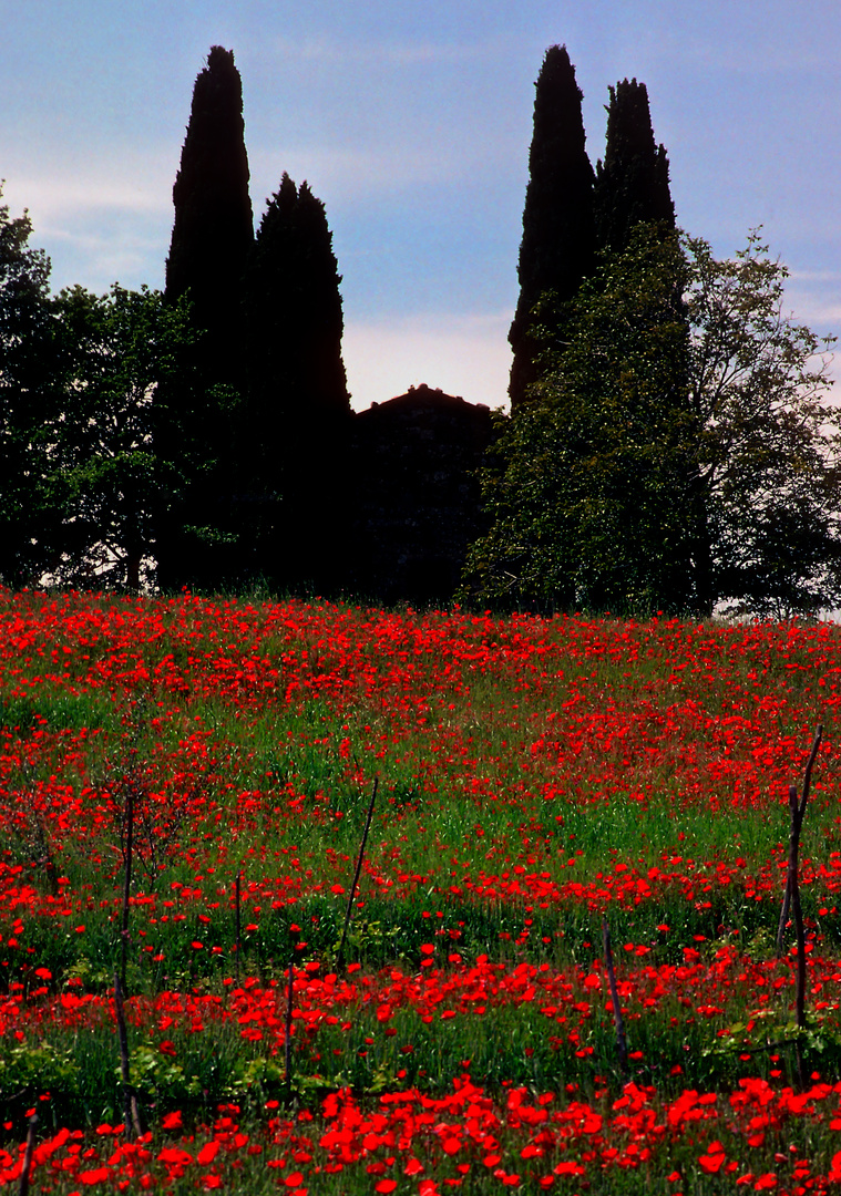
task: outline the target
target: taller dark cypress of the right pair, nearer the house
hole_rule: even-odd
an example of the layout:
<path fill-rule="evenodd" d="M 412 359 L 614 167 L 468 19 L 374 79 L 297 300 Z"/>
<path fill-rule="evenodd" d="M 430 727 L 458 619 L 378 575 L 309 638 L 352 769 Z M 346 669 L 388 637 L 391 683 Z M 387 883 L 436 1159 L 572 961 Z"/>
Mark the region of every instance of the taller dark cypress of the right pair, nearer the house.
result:
<path fill-rule="evenodd" d="M 546 292 L 553 292 L 557 304 L 572 299 L 593 264 L 593 170 L 585 150 L 581 98 L 566 47 L 549 47 L 536 84 L 520 293 L 508 332 L 513 409 L 538 376 L 534 360 L 540 346 L 531 336 L 535 304 Z"/>

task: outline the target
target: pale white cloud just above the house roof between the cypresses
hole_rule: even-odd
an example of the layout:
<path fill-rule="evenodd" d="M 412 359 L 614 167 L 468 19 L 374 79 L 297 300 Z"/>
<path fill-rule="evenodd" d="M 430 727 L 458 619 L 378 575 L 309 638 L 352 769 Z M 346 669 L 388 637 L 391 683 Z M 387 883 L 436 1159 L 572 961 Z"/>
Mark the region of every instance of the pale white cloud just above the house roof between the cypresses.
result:
<path fill-rule="evenodd" d="M 425 315 L 345 327 L 352 405 L 360 411 L 426 383 L 470 403 L 507 403 L 511 312 Z"/>

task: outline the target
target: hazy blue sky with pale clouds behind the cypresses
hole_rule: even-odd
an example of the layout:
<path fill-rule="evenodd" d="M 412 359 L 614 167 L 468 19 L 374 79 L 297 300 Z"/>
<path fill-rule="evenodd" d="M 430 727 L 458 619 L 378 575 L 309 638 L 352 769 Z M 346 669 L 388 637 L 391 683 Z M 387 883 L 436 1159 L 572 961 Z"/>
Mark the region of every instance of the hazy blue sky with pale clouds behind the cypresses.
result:
<path fill-rule="evenodd" d="M 763 225 L 787 301 L 841 331 L 839 0 L 0 0 L 0 178 L 57 289 L 163 286 L 193 84 L 243 77 L 258 221 L 285 170 L 327 206 L 356 408 L 428 383 L 506 401 L 534 81 L 566 43 L 587 148 L 646 83 L 678 222 Z"/>

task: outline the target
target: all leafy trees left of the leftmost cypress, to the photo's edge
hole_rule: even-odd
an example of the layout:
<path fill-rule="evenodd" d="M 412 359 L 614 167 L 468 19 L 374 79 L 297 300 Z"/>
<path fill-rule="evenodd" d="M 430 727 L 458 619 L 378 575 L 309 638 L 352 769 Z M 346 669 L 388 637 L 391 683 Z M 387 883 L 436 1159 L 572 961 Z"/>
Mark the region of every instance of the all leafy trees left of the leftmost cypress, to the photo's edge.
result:
<path fill-rule="evenodd" d="M 184 385 L 187 303 L 117 285 L 53 297 L 30 236 L 0 207 L 0 579 L 136 588 L 183 482 L 154 452 L 152 398 Z"/>

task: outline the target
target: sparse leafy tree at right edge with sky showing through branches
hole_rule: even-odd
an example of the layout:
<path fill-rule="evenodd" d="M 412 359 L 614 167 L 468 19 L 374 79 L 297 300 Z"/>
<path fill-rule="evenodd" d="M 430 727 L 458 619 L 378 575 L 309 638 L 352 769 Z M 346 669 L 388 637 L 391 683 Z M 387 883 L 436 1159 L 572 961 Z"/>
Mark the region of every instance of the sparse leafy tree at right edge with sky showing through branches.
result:
<path fill-rule="evenodd" d="M 786 267 L 758 232 L 717 260 L 684 237 L 690 399 L 714 599 L 787 617 L 841 599 L 841 414 L 828 341 L 784 313 Z"/>

